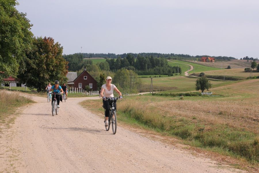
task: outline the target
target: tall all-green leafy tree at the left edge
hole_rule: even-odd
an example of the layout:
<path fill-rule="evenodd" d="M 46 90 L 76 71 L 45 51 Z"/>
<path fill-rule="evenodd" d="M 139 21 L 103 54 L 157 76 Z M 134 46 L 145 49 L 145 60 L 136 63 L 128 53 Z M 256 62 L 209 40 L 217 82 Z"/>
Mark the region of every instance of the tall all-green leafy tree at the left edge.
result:
<path fill-rule="evenodd" d="M 9 76 L 16 77 L 25 52 L 31 49 L 32 25 L 26 14 L 15 6 L 16 0 L 0 1 L 0 83 Z"/>

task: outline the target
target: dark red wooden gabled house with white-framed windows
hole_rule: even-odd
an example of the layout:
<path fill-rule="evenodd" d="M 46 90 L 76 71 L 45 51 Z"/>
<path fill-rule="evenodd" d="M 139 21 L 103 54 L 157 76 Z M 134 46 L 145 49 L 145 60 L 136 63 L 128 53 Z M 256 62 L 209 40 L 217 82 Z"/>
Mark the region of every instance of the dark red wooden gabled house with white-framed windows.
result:
<path fill-rule="evenodd" d="M 96 80 L 84 69 L 84 71 L 75 78 L 74 86 L 75 88 L 85 89 L 86 85 L 89 85 L 93 91 L 97 91 Z"/>

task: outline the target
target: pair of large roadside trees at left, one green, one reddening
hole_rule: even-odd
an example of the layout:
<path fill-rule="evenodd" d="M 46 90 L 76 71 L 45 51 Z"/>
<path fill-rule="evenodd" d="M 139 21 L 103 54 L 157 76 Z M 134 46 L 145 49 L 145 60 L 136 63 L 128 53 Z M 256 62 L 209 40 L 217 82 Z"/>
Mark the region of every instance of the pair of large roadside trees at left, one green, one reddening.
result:
<path fill-rule="evenodd" d="M 47 82 L 66 82 L 63 47 L 51 37 L 34 37 L 16 0 L 0 1 L 0 83 L 12 76 L 41 91 Z"/>

